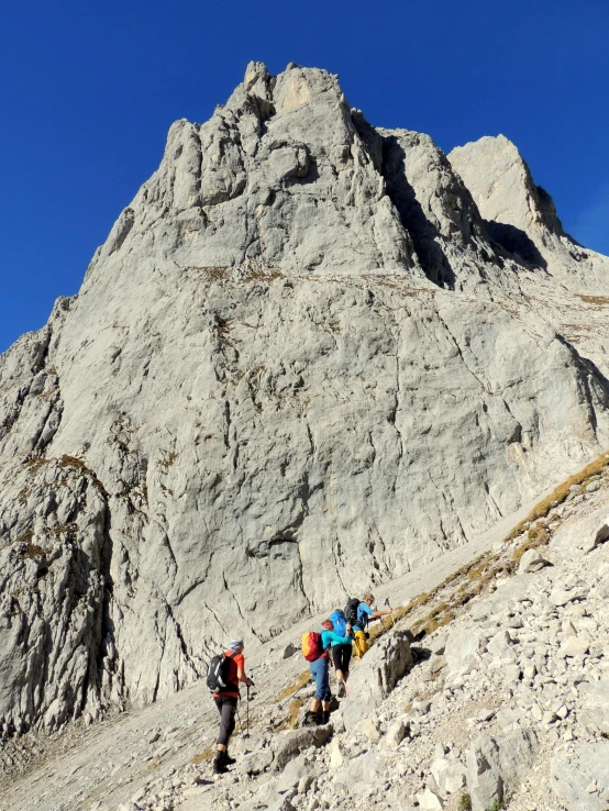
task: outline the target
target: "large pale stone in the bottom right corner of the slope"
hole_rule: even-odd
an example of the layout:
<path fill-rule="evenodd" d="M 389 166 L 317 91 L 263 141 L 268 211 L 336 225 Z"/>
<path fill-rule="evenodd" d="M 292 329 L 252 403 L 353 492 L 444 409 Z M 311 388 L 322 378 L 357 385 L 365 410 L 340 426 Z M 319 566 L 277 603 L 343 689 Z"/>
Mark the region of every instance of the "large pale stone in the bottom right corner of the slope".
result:
<path fill-rule="evenodd" d="M 550 762 L 550 785 L 568 811 L 605 811 L 609 804 L 609 741 L 579 744 Z"/>

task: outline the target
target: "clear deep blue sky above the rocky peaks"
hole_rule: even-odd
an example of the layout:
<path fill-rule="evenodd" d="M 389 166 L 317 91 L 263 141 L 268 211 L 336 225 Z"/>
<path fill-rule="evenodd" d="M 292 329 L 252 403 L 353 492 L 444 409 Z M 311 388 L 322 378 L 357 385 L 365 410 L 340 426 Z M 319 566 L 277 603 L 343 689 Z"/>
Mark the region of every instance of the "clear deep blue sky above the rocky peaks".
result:
<path fill-rule="evenodd" d="M 0 352 L 77 292 L 179 118 L 251 59 L 341 77 L 370 122 L 449 152 L 503 133 L 609 254 L 609 0 L 16 0 L 0 12 Z"/>

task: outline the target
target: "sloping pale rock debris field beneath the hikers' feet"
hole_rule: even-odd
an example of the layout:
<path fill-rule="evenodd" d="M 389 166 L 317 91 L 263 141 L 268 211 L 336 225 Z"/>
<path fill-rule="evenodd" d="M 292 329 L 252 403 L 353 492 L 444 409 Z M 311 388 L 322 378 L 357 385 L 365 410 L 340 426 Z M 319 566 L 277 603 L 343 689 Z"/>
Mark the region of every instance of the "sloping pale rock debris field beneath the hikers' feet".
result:
<path fill-rule="evenodd" d="M 211 773 L 217 718 L 201 686 L 190 709 L 180 708 L 185 691 L 165 707 L 56 736 L 63 756 L 41 742 L 22 778 L 4 754 L 2 808 L 606 811 L 608 470 L 572 486 L 547 515 L 412 600 L 354 667 L 350 695 L 328 725 L 299 729 L 312 690 L 300 678 L 296 629 L 291 642 L 267 643 L 252 657 L 259 688 L 250 735 L 242 730 L 231 744 L 237 763 L 228 775 Z M 144 732 L 152 711 L 157 725 Z M 112 725 L 130 723 L 140 731 L 117 735 L 117 749 L 132 748 L 126 764 L 117 751 L 114 766 Z M 90 757 L 87 735 L 98 741 L 100 793 L 115 797 L 120 788 L 121 802 L 95 799 L 95 790 L 70 798 L 69 780 L 46 781 L 54 757 L 69 760 L 84 744 Z M 45 785 L 46 798 L 24 797 Z"/>

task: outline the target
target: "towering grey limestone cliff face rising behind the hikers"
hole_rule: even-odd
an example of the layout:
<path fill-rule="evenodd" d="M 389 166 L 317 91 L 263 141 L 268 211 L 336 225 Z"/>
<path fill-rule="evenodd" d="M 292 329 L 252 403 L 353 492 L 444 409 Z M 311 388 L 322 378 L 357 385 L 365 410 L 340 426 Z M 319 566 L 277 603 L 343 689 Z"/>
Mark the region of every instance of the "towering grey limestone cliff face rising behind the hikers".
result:
<path fill-rule="evenodd" d="M 294 65 L 174 124 L 78 296 L 0 357 L 5 734 L 168 695 L 607 445 L 609 260 L 595 302 L 586 262 L 542 278 L 453 157 Z"/>

